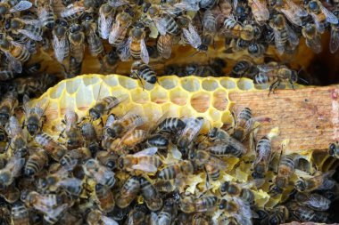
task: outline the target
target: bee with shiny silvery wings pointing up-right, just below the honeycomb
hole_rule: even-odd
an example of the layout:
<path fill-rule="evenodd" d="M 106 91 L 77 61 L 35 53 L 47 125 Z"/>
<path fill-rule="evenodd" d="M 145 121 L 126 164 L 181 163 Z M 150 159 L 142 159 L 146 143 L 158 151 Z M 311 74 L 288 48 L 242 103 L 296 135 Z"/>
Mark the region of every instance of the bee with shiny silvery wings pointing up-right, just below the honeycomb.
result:
<path fill-rule="evenodd" d="M 178 147 L 179 148 L 187 148 L 192 141 L 197 137 L 200 133 L 200 130 L 203 127 L 204 119 L 203 117 L 197 118 L 186 118 L 184 121 L 185 128 L 182 129 L 178 135 Z"/>

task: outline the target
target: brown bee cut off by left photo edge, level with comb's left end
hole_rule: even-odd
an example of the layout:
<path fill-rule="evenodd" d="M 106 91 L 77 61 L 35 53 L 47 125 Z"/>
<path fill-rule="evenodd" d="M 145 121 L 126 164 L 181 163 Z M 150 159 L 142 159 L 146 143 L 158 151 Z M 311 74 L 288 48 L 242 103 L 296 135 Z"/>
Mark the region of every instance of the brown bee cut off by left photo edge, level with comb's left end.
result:
<path fill-rule="evenodd" d="M 17 92 L 7 92 L 4 99 L 0 103 L 0 123 L 4 127 L 10 117 L 14 114 L 14 109 L 18 107 L 18 94 Z"/>

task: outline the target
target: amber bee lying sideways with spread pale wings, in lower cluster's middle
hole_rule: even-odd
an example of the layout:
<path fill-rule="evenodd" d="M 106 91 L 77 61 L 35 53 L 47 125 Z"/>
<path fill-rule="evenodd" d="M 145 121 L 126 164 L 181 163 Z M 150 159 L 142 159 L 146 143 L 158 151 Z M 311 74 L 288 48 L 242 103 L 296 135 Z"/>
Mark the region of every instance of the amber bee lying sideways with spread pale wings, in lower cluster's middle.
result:
<path fill-rule="evenodd" d="M 148 148 L 136 152 L 133 155 L 122 156 L 118 159 L 120 169 L 124 170 L 140 170 L 146 173 L 155 173 L 162 165 L 161 159 L 154 156 L 157 148 Z"/>

